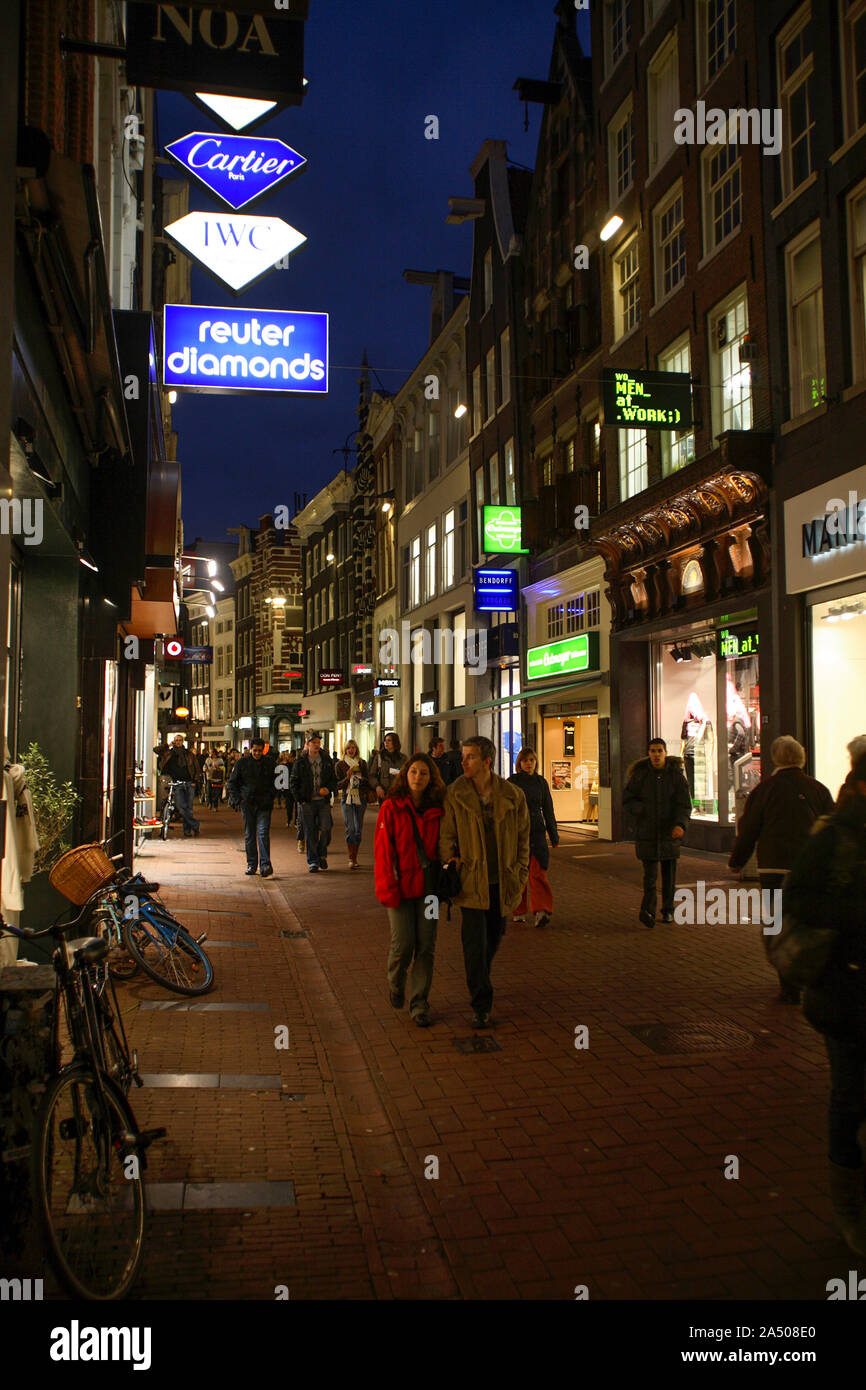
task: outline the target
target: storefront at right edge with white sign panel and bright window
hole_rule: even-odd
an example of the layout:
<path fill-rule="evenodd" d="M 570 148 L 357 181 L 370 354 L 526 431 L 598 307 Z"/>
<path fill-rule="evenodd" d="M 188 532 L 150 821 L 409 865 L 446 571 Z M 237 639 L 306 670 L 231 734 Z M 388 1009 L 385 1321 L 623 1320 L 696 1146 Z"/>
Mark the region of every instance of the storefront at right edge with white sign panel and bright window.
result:
<path fill-rule="evenodd" d="M 835 795 L 866 733 L 866 467 L 784 505 L 785 589 L 799 599 L 809 771 Z"/>

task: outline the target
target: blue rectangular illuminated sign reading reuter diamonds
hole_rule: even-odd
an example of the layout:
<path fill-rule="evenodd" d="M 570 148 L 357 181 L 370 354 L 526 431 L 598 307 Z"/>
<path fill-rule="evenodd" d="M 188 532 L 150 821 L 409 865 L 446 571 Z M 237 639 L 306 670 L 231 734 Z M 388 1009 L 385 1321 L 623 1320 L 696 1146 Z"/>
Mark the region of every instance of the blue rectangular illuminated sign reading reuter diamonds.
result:
<path fill-rule="evenodd" d="M 165 304 L 163 381 L 193 391 L 328 391 L 328 316 Z"/>

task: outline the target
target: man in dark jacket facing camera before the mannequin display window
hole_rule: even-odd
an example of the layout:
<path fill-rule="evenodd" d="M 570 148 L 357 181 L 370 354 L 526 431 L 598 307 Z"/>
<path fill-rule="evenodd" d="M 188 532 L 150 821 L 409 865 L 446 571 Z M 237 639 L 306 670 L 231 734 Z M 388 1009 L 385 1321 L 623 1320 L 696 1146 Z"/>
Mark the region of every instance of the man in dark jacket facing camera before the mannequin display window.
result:
<path fill-rule="evenodd" d="M 646 758 L 628 769 L 623 809 L 635 827 L 635 852 L 644 860 L 639 919 L 656 924 L 656 881 L 662 865 L 662 922 L 674 920 L 680 841 L 688 830 L 692 802 L 681 758 L 667 756 L 663 738 L 649 741 Z"/>

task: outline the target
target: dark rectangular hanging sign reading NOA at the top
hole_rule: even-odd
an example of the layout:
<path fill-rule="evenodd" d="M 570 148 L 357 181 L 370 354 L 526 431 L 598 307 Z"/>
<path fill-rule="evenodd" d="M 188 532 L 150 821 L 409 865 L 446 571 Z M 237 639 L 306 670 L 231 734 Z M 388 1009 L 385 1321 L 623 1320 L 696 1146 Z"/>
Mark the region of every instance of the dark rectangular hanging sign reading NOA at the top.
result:
<path fill-rule="evenodd" d="M 126 82 L 167 92 L 250 96 L 300 106 L 303 19 L 189 4 L 126 6 Z"/>

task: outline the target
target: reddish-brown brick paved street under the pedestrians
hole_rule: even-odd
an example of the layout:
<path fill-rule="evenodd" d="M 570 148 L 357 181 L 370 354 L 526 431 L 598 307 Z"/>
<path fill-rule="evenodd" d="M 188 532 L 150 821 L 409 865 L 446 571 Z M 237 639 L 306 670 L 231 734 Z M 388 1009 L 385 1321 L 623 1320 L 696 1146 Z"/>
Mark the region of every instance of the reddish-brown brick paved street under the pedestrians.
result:
<path fill-rule="evenodd" d="M 190 929 L 234 942 L 213 945 L 207 1002 L 259 1009 L 143 1009 L 177 997 L 121 987 L 142 1072 L 207 1083 L 133 1094 L 142 1125 L 170 1130 L 150 1156 L 165 1209 L 140 1297 L 272 1300 L 285 1284 L 292 1300 L 571 1300 L 587 1284 L 594 1300 L 823 1300 L 847 1273 L 824 1193 L 822 1041 L 774 1002 L 756 927 L 648 931 L 631 847 L 566 833 L 553 923 L 509 923 L 495 963 L 500 1051 L 463 1055 L 457 912 L 439 924 L 434 1027 L 386 1001 L 371 819 L 359 872 L 338 812 L 332 867 L 309 876 L 275 810 L 271 880 L 243 877 L 234 813 L 202 821 L 199 840 L 172 834 L 138 866 Z M 680 884 L 696 878 L 728 883 L 719 859 L 684 856 Z M 745 1034 L 660 1055 L 634 1031 L 689 1022 Z M 218 1193 L 178 1195 L 240 1182 L 272 1186 L 227 1209 Z M 292 1205 L 260 1205 L 285 1201 L 286 1182 Z"/>

